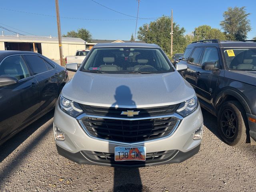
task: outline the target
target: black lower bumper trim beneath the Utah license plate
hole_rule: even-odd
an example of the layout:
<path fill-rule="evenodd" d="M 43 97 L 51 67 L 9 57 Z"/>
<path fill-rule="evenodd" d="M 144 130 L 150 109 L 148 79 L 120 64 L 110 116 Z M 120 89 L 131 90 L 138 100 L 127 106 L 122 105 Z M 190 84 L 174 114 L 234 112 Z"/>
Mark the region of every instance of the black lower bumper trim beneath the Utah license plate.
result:
<path fill-rule="evenodd" d="M 71 153 L 71 152 L 68 152 L 67 150 L 64 150 L 58 145 L 56 145 L 56 148 L 60 155 L 78 164 L 90 164 L 90 165 L 123 167 L 123 168 L 138 168 L 138 167 L 145 167 L 145 166 L 156 166 L 156 165 L 162 165 L 162 164 L 183 162 L 198 153 L 200 149 L 200 144 L 188 152 L 172 150 L 167 152 L 166 155 L 164 155 L 160 159 L 146 160 L 145 162 L 138 162 L 138 161 L 115 162 L 114 160 L 102 160 L 102 159 L 98 159 L 96 155 L 92 155 L 88 151 Z"/>

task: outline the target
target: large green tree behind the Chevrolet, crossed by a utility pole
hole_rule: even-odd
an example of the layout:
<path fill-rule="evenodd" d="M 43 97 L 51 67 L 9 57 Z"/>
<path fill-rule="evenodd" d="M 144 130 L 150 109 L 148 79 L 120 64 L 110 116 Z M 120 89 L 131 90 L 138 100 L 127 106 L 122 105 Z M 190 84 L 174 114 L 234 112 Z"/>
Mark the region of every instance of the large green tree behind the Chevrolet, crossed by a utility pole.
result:
<path fill-rule="evenodd" d="M 162 16 L 157 20 L 140 26 L 138 39 L 146 43 L 159 45 L 170 56 L 171 47 L 171 18 Z M 184 52 L 186 48 L 185 29 L 173 23 L 173 53 Z"/>

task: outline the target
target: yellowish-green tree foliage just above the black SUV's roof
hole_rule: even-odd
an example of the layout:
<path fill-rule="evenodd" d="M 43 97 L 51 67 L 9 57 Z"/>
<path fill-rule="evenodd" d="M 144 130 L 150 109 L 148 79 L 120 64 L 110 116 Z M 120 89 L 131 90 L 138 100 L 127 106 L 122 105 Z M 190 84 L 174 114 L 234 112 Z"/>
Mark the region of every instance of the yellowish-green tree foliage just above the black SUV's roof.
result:
<path fill-rule="evenodd" d="M 226 34 L 219 29 L 211 28 L 208 25 L 202 25 L 195 28 L 193 31 L 194 40 L 206 40 L 206 39 L 220 39 L 226 40 Z"/>

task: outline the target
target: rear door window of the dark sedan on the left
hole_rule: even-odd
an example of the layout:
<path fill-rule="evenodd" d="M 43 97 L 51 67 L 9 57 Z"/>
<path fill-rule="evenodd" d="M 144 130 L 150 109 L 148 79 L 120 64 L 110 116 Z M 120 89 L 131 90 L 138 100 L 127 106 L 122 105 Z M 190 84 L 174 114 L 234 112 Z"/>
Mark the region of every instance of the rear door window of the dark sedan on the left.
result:
<path fill-rule="evenodd" d="M 31 66 L 34 75 L 48 71 L 44 60 L 37 55 L 24 55 L 24 57 Z"/>

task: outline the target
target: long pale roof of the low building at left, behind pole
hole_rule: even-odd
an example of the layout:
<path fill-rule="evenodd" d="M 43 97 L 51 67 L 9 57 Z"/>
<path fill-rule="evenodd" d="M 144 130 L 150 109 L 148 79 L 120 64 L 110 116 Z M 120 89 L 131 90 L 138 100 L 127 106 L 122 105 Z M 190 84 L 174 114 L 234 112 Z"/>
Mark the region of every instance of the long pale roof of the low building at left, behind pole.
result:
<path fill-rule="evenodd" d="M 34 42 L 34 43 L 58 43 L 58 37 L 52 36 L 26 36 L 26 35 L 1 35 L 0 42 Z M 62 37 L 62 43 L 85 44 L 81 38 Z"/>

